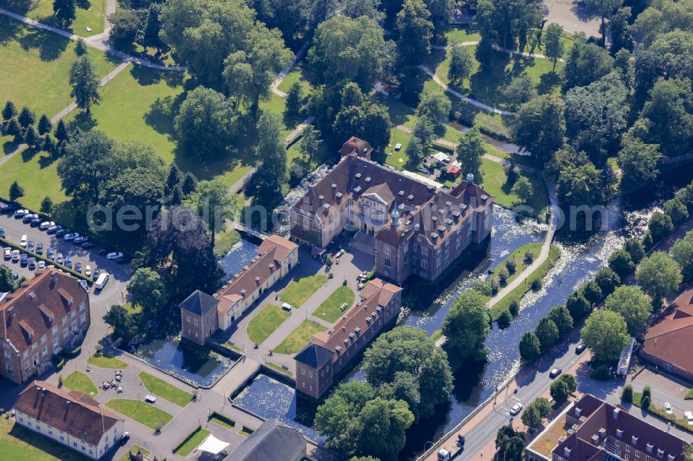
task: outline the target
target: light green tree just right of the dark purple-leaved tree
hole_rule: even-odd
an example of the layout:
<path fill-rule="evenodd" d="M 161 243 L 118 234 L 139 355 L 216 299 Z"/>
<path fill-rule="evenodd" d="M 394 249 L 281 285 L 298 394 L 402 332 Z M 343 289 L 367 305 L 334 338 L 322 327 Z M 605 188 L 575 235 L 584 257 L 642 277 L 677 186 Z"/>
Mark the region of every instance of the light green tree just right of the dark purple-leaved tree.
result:
<path fill-rule="evenodd" d="M 186 205 L 196 210 L 207 224 L 212 246 L 218 232 L 225 230 L 227 219 L 236 215 L 237 203 L 234 196 L 229 194 L 229 187 L 221 179 L 200 181 L 197 190 L 186 201 Z"/>

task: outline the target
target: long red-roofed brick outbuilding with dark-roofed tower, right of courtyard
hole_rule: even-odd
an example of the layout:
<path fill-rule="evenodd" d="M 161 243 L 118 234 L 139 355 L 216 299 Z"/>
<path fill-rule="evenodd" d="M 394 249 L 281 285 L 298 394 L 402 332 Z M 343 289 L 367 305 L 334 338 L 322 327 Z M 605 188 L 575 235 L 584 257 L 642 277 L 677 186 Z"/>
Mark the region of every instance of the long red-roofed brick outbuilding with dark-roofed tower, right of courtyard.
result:
<path fill-rule="evenodd" d="M 347 364 L 373 341 L 402 306 L 402 289 L 378 278 L 370 280 L 359 300 L 337 324 L 310 338 L 295 356 L 296 389 L 319 399 Z"/>

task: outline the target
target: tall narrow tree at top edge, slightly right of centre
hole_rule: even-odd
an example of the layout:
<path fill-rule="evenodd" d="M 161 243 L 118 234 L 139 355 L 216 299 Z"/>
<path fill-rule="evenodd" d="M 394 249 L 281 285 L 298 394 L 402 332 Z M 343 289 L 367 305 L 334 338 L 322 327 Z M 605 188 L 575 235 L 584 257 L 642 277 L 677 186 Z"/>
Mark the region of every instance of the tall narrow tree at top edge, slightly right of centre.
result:
<path fill-rule="evenodd" d="M 404 0 L 397 13 L 398 52 L 407 66 L 418 66 L 430 53 L 433 23 L 423 0 Z"/>

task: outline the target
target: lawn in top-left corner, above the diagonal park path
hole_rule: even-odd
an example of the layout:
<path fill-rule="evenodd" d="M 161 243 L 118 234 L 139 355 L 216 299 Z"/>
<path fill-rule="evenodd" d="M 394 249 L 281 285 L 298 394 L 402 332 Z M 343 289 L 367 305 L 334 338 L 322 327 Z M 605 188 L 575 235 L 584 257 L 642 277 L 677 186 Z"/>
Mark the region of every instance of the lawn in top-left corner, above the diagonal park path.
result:
<path fill-rule="evenodd" d="M 52 0 L 38 0 L 35 2 L 0 0 L 0 6 L 48 26 L 60 28 L 60 24 L 53 17 Z M 103 32 L 103 23 L 106 17 L 104 15 L 106 0 L 78 0 L 75 2 L 75 6 L 77 7 L 77 17 L 64 30 L 69 30 L 82 37 L 89 37 Z M 87 27 L 91 28 L 91 31 L 87 31 Z"/>

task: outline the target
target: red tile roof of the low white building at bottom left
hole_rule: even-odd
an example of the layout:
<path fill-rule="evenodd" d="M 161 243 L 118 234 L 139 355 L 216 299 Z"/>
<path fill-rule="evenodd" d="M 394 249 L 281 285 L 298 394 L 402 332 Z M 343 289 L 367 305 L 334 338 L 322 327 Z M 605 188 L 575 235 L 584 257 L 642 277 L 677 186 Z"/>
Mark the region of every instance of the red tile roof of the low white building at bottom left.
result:
<path fill-rule="evenodd" d="M 91 397 L 81 392 L 64 392 L 46 381 L 30 383 L 17 397 L 14 408 L 92 445 L 97 445 L 116 422 L 123 421 L 100 408 Z"/>

